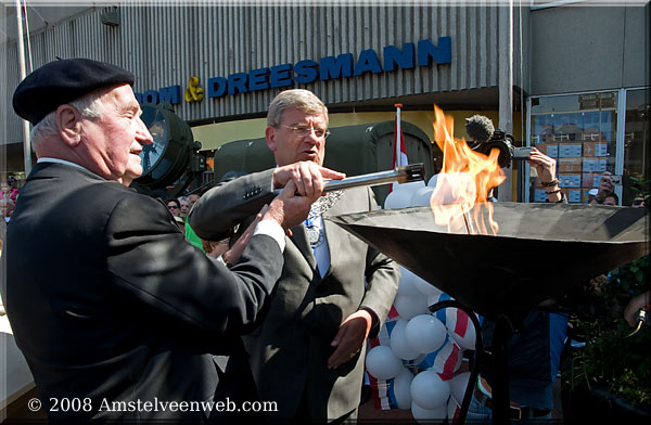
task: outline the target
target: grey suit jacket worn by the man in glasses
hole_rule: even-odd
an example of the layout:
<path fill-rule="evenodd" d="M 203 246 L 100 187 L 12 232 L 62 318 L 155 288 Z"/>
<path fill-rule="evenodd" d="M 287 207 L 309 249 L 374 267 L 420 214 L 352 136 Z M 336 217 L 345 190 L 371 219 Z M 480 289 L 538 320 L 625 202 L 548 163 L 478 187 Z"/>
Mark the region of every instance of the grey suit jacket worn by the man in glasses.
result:
<path fill-rule="evenodd" d="M 270 202 L 272 172 L 247 175 L 212 189 L 192 208 L 190 226 L 205 239 L 224 235 Z M 370 189 L 350 189 L 324 216 L 375 208 Z M 330 249 L 324 276 L 317 272 L 305 227 L 294 227 L 293 236 L 286 237 L 285 262 L 269 315 L 244 338 L 260 398 L 278 402 L 281 420 L 295 414 L 304 390 L 316 421 L 334 420 L 357 408 L 365 350 L 328 370 L 334 350 L 330 343 L 341 322 L 360 307 L 373 310 L 382 324 L 398 287 L 394 261 L 330 221 L 324 220 L 324 228 Z"/>

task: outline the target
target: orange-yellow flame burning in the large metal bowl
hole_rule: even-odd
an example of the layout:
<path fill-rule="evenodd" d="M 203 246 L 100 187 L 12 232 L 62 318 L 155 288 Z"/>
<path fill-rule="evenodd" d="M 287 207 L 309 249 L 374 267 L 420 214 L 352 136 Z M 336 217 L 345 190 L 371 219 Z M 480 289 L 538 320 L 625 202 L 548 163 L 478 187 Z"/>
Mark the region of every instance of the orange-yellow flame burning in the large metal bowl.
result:
<path fill-rule="evenodd" d="M 447 224 L 448 232 L 496 235 L 499 226 L 493 219 L 493 203 L 486 199 L 490 189 L 506 180 L 499 151 L 488 156 L 472 151 L 465 140 L 454 137 L 454 118 L 436 105 L 434 113 L 434 140 L 443 152 L 443 169 L 430 198 L 435 222 Z"/>

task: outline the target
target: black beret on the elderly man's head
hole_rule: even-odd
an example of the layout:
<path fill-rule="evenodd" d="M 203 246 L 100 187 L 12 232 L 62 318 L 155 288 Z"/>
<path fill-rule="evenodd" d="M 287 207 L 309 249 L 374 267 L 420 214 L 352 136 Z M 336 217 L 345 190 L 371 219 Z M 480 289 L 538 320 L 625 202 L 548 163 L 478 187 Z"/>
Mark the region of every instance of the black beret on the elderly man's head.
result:
<path fill-rule="evenodd" d="M 16 88 L 13 107 L 33 125 L 60 105 L 102 87 L 128 83 L 133 74 L 118 66 L 89 59 L 67 59 L 44 64 Z"/>

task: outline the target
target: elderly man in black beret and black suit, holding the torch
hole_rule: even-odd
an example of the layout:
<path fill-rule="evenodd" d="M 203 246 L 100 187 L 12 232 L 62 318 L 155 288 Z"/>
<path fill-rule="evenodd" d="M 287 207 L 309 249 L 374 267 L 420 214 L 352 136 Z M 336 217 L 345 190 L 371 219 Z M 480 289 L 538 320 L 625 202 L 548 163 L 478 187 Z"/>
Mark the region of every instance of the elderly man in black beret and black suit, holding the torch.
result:
<path fill-rule="evenodd" d="M 184 241 L 164 205 L 120 184 L 152 143 L 132 83 L 125 69 L 75 59 L 15 90 L 38 157 L 3 253 L 16 344 L 50 420 L 251 418 L 240 335 L 263 319 L 285 231 L 322 188 L 295 196 L 290 185 L 265 206 L 229 270 Z"/>

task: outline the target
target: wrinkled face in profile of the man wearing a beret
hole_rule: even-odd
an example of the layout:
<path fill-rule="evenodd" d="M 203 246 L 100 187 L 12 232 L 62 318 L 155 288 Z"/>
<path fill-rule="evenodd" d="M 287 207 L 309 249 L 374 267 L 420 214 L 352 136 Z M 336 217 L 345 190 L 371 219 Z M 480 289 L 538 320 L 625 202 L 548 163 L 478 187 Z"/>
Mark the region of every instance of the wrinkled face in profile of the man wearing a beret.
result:
<path fill-rule="evenodd" d="M 92 171 L 116 180 L 140 176 L 142 145 L 153 142 L 140 119 L 140 105 L 129 85 L 118 86 L 102 95 L 102 116 L 84 118 L 82 136 Z"/>

